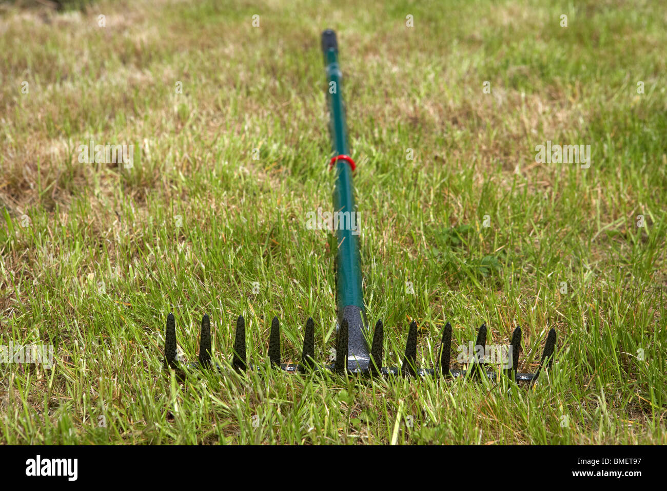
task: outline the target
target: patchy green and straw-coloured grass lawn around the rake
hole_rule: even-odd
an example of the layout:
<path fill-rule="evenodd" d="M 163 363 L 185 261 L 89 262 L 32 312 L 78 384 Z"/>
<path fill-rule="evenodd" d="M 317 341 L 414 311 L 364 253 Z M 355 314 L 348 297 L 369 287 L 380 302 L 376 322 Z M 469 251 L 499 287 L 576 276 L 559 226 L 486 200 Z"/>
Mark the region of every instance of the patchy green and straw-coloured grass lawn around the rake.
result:
<path fill-rule="evenodd" d="M 2 9 L 0 345 L 53 345 L 55 366 L 0 364 L 1 443 L 667 443 L 656 3 Z M 489 343 L 522 327 L 519 369 L 534 371 L 556 327 L 548 380 L 230 370 L 181 384 L 161 369 L 169 311 L 188 360 L 203 313 L 223 364 L 241 314 L 258 363 L 273 315 L 287 359 L 309 316 L 316 356 L 335 345 L 335 242 L 305 226 L 331 207 L 325 27 L 338 31 L 366 302 L 387 363 L 400 364 L 412 319 L 422 366 L 446 321 L 454 347 L 486 321 Z M 133 167 L 79 162 L 89 140 L 135 144 Z M 537 163 L 547 140 L 590 145 L 590 168 Z"/>

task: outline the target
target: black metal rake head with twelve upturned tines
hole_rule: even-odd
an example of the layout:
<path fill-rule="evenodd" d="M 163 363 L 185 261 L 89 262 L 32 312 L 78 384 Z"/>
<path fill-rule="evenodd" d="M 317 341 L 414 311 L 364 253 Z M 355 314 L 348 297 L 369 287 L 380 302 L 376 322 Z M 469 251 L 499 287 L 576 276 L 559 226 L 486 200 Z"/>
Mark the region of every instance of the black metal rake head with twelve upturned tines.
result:
<path fill-rule="evenodd" d="M 403 364 L 398 367 L 383 367 L 382 366 L 382 343 L 384 339 L 384 326 L 382 321 L 376 323 L 373 342 L 370 349 L 369 359 L 356 359 L 350 357 L 351 347 L 348 343 L 349 331 L 348 321 L 344 319 L 338 329 L 338 337 L 336 339 L 336 361 L 332 365 L 325 365 L 315 361 L 315 324 L 312 317 L 309 317 L 305 323 L 305 333 L 303 335 L 303 351 L 301 352 L 301 361 L 299 363 L 282 363 L 280 354 L 280 322 L 277 317 L 273 317 L 271 321 L 271 332 L 269 334 L 269 361 L 274 369 L 283 369 L 287 372 L 307 373 L 311 371 L 329 370 L 339 374 L 351 375 L 365 375 L 368 377 L 376 376 L 431 376 L 431 377 L 462 377 L 468 375 L 470 378 L 481 378 L 486 376 L 488 379 L 496 379 L 497 373 L 495 371 L 487 371 L 484 367 L 485 361 L 488 360 L 486 353 L 486 325 L 482 324 L 478 331 L 477 341 L 474 345 L 474 352 L 476 355 L 468 357 L 470 365 L 468 370 L 450 369 L 450 355 L 452 345 L 452 325 L 446 323 L 442 331 L 442 343 L 440 344 L 439 357 L 436 361 L 436 366 L 433 368 L 420 368 L 417 365 L 417 323 L 412 321 L 410 323 L 410 330 L 408 331 L 408 342 L 406 343 L 406 351 L 403 358 Z M 365 342 L 365 341 L 364 341 Z M 471 345 L 472 347 L 472 345 Z M 512 334 L 512 342 L 506 350 L 506 360 L 504 361 L 503 373 L 513 378 L 515 381 L 536 381 L 540 375 L 540 371 L 544 368 L 551 369 L 554 359 L 554 351 L 556 349 L 556 329 L 551 329 L 546 339 L 544 352 L 535 373 L 518 373 L 516 371 L 519 363 L 519 353 L 521 350 L 521 328 L 514 329 Z M 208 315 L 204 315 L 201 319 L 201 338 L 199 341 L 199 357 L 197 362 L 192 364 L 193 367 L 201 367 L 204 369 L 211 368 L 211 324 Z M 236 321 L 236 332 L 234 337 L 233 357 L 231 366 L 237 371 L 245 371 L 246 369 L 257 369 L 258 366 L 253 367 L 246 361 L 245 356 L 245 320 L 239 316 Z M 183 371 L 179 366 L 179 361 L 176 357 L 176 328 L 173 313 L 167 316 L 167 330 L 165 334 L 165 358 L 164 367 L 177 370 L 179 376 L 183 376 Z M 219 367 L 218 367 L 219 368 Z"/>

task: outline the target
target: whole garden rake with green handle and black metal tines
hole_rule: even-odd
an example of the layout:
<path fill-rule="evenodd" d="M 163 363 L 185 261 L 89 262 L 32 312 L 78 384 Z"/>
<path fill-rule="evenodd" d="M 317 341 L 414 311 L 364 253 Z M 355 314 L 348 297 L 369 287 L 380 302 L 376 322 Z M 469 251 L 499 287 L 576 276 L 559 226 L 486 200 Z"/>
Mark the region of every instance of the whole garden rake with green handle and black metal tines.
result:
<path fill-rule="evenodd" d="M 496 371 L 486 371 L 485 362 L 489 356 L 486 353 L 487 327 L 482 324 L 478 331 L 475 344 L 475 355 L 470 355 L 468 370 L 450 369 L 450 356 L 452 344 L 452 325 L 446 323 L 442 331 L 442 342 L 435 366 L 433 368 L 420 368 L 417 364 L 417 333 L 418 327 L 415 321 L 410 323 L 408 330 L 408 342 L 401 367 L 382 366 L 382 345 L 384 341 L 384 326 L 382 321 L 376 323 L 373 341 L 370 349 L 366 342 L 365 333 L 370 329 L 364 307 L 364 294 L 362 289 L 362 269 L 359 246 L 358 224 L 354 225 L 353 213 L 356 213 L 354 202 L 354 188 L 352 187 L 352 175 L 356 170 L 356 164 L 350 157 L 348 138 L 346 132 L 346 118 L 341 94 L 342 73 L 338 65 L 338 42 L 336 33 L 327 29 L 322 33 L 321 46 L 325 59 L 327 81 L 329 86 L 329 114 L 330 132 L 333 140 L 334 156 L 329 160 L 329 169 L 336 170 L 336 187 L 333 192 L 333 209 L 336 216 L 342 217 L 338 220 L 336 234 L 338 238 L 338 251 L 336 255 L 336 307 L 337 307 L 337 336 L 336 336 L 336 361 L 331 365 L 315 362 L 315 326 L 313 319 L 309 317 L 305 325 L 303 339 L 303 351 L 300 363 L 281 363 L 280 353 L 280 323 L 277 317 L 271 321 L 269 334 L 268 357 L 270 366 L 280 368 L 287 372 L 307 373 L 319 370 L 329 370 L 339 374 L 374 376 L 431 376 L 431 377 L 462 377 L 471 379 L 487 377 L 496 379 Z M 348 220 L 346 220 L 348 218 Z M 343 226 L 340 222 L 343 222 Z M 544 352 L 535 373 L 518 373 L 519 353 L 521 349 L 521 328 L 517 327 L 512 335 L 512 341 L 506 350 L 506 360 L 502 373 L 515 381 L 536 381 L 540 371 L 544 368 L 551 369 L 554 350 L 556 349 L 556 330 L 551 329 L 548 333 Z M 211 327 L 208 315 L 201 319 L 201 337 L 199 341 L 199 357 L 193 367 L 204 369 L 212 368 L 211 363 Z M 245 356 L 245 319 L 238 317 L 233 347 L 233 358 L 231 366 L 238 371 L 246 369 L 259 369 L 259 365 L 251 365 Z M 173 313 L 167 316 L 167 329 L 165 333 L 165 358 L 164 367 L 174 369 L 177 376 L 182 379 L 185 373 L 176 356 L 176 329 Z M 217 366 L 217 368 L 221 368 Z"/>

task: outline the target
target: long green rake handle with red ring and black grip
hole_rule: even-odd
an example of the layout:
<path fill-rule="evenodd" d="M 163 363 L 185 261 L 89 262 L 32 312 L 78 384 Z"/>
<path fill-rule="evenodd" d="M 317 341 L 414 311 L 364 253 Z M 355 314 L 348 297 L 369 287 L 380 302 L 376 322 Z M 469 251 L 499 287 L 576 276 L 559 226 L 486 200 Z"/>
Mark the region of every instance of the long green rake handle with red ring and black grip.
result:
<path fill-rule="evenodd" d="M 368 329 L 362 287 L 362 266 L 359 248 L 360 224 L 354 203 L 352 172 L 354 161 L 348 156 L 345 107 L 342 96 L 342 73 L 338 65 L 336 33 L 327 29 L 322 33 L 322 53 L 327 73 L 327 99 L 331 117 L 329 130 L 333 140 L 333 158 L 330 166 L 336 171 L 333 190 L 333 224 L 338 238 L 336 256 L 336 306 L 338 327 L 348 323 L 348 346 L 340 345 L 336 359 L 345 361 L 340 354 L 348 353 L 348 369 L 366 369 L 370 361 L 364 332 Z M 356 230 L 355 230 L 356 229 Z M 339 343 L 342 344 L 342 343 Z"/>

